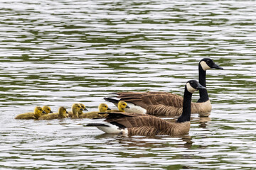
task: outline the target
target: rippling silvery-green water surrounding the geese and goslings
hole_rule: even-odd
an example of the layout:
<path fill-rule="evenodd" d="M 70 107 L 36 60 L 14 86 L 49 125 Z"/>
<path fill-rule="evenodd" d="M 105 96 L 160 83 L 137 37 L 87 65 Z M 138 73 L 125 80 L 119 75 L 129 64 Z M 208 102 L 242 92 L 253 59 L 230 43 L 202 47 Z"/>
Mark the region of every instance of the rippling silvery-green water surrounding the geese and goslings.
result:
<path fill-rule="evenodd" d="M 0 6 L 1 169 L 256 169 L 255 1 Z M 203 57 L 224 70 L 207 72 L 213 111 L 193 114 L 188 135 L 124 137 L 87 128 L 87 119 L 14 120 L 43 105 L 82 102 L 95 111 L 113 91 L 183 95 Z"/>

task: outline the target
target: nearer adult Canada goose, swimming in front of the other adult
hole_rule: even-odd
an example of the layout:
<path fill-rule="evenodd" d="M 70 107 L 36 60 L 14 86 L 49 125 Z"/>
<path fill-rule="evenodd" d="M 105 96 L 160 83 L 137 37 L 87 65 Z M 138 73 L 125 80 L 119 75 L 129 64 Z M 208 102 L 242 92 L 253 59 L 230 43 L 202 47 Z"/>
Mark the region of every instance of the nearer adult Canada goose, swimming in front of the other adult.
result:
<path fill-rule="evenodd" d="M 154 115 L 143 113 L 108 113 L 105 122 L 89 123 L 86 126 L 96 126 L 106 133 L 117 133 L 127 135 L 182 135 L 188 133 L 191 119 L 191 98 L 197 89 L 205 89 L 196 80 L 186 83 L 183 100 L 183 111 L 175 123 Z"/>

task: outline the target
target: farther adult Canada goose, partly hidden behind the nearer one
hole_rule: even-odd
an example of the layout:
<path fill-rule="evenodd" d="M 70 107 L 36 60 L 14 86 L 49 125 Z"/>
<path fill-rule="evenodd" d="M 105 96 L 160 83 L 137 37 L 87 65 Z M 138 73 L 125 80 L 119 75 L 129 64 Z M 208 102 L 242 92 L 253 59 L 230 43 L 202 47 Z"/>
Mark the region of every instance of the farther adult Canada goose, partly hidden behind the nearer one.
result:
<path fill-rule="evenodd" d="M 210 58 L 203 58 L 199 64 L 199 83 L 206 87 L 206 70 L 223 69 Z M 149 92 L 120 92 L 115 93 L 120 101 L 126 101 L 130 108 L 126 112 L 146 113 L 149 115 L 181 115 L 183 98 L 176 94 L 161 91 Z M 200 98 L 197 103 L 191 103 L 191 113 L 209 113 L 211 104 L 206 89 L 199 89 Z M 105 98 L 117 105 L 119 100 Z"/>

